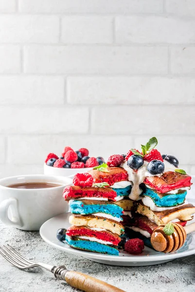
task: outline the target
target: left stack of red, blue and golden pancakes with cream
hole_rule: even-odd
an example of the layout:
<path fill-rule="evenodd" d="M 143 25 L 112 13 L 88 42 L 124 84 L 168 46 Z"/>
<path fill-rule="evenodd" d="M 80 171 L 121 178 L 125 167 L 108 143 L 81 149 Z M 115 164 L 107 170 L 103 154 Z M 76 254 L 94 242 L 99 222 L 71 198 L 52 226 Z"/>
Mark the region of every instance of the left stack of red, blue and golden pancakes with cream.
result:
<path fill-rule="evenodd" d="M 65 187 L 64 198 L 69 201 L 73 214 L 66 241 L 76 249 L 118 255 L 123 221 L 130 218 L 133 206 L 133 201 L 128 198 L 131 183 L 121 167 L 107 168 L 107 172 L 96 169 L 89 173 L 94 183 L 107 183 L 109 187 Z"/>

